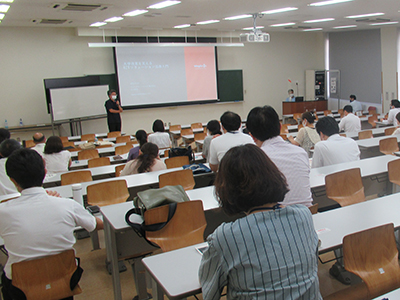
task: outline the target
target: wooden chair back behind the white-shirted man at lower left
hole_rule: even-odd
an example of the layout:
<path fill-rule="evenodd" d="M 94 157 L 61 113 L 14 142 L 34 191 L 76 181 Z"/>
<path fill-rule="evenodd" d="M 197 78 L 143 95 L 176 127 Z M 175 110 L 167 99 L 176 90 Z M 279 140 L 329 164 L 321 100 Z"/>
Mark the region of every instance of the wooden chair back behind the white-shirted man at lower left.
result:
<path fill-rule="evenodd" d="M 72 291 L 70 279 L 75 272 L 73 249 L 43 258 L 13 263 L 12 284 L 30 300 L 63 299 L 82 293 L 77 285 Z"/>

